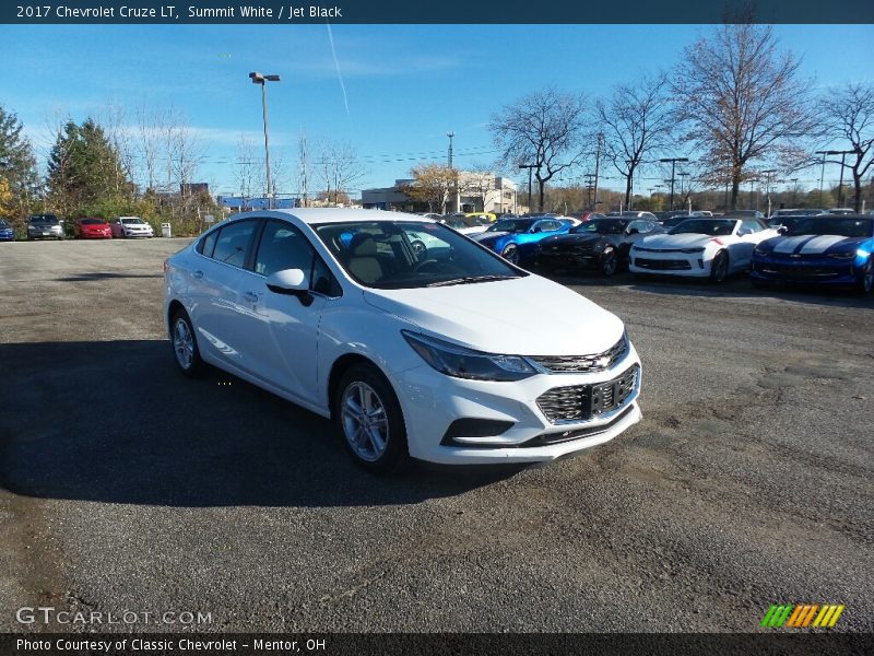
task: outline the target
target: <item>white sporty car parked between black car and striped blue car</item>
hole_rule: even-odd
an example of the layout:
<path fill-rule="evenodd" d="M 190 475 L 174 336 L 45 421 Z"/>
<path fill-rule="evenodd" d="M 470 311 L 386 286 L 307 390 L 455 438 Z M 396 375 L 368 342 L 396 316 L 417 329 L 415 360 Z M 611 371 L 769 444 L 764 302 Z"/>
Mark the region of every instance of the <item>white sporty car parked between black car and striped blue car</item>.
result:
<path fill-rule="evenodd" d="M 730 273 L 747 270 L 756 245 L 777 235 L 759 219 L 686 219 L 631 246 L 628 270 L 722 282 Z"/>

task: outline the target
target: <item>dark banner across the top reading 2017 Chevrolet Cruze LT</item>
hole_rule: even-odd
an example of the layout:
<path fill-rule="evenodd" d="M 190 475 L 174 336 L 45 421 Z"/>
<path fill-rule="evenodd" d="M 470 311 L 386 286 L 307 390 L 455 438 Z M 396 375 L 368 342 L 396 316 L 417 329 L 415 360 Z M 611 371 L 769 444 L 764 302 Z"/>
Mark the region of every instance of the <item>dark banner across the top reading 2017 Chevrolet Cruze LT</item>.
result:
<path fill-rule="evenodd" d="M 752 14 L 748 9 L 753 7 Z M 872 0 L 67 0 L 3 2 L 9 24 L 707 24 L 874 23 Z M 839 44 L 836 44 L 839 47 Z"/>

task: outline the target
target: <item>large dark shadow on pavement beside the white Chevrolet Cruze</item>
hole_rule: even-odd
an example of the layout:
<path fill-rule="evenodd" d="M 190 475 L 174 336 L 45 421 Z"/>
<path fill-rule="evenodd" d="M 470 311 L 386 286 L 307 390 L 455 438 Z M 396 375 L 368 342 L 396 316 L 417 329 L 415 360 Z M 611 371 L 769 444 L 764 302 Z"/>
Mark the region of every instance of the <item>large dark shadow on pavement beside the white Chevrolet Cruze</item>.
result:
<path fill-rule="evenodd" d="M 358 468 L 331 423 L 213 371 L 177 373 L 165 340 L 0 344 L 0 485 L 166 506 L 364 506 L 462 494 L 518 472 Z"/>

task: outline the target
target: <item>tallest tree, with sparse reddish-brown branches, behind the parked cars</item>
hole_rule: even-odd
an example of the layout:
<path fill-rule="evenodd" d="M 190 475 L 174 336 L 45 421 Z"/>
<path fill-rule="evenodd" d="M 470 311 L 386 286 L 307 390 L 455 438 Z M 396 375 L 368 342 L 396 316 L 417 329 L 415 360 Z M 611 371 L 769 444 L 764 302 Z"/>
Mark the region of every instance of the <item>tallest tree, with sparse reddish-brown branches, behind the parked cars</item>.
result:
<path fill-rule="evenodd" d="M 720 25 L 684 50 L 672 85 L 675 116 L 687 128 L 684 140 L 712 171 L 727 173 L 731 209 L 747 165 L 784 165 L 799 152 L 794 142 L 815 132 L 799 65 L 792 52 L 778 51 L 768 25 Z"/>

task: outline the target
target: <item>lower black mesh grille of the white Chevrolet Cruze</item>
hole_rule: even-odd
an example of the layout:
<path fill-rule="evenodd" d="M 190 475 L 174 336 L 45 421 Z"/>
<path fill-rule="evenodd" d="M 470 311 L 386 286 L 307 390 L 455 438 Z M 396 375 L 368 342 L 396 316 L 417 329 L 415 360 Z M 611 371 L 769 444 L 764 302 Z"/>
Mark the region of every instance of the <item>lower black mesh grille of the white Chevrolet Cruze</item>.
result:
<path fill-rule="evenodd" d="M 637 385 L 639 371 L 635 364 L 606 383 L 553 387 L 538 397 L 538 408 L 552 423 L 592 419 L 615 410 L 628 399 Z"/>

